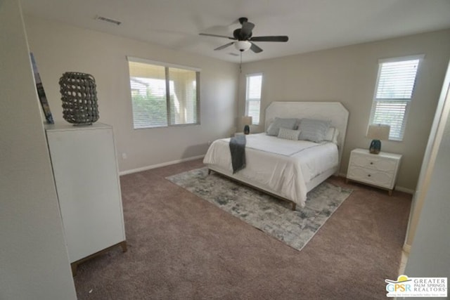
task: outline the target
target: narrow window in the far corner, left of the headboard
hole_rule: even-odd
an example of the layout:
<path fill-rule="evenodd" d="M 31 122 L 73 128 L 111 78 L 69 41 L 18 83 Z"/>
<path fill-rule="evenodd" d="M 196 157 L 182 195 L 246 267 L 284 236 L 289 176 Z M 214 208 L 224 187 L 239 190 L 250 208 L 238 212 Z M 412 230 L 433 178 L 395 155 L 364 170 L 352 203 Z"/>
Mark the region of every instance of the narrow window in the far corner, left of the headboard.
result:
<path fill-rule="evenodd" d="M 259 124 L 261 107 L 262 74 L 247 75 L 247 92 L 245 93 L 245 115 L 252 117 L 252 124 Z"/>

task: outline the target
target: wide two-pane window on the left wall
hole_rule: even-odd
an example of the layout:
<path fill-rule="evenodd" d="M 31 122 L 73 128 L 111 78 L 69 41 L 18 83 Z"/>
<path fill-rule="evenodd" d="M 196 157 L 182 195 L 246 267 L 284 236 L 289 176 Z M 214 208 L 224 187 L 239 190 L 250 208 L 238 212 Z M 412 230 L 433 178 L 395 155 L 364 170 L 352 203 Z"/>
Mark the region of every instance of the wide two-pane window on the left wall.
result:
<path fill-rule="evenodd" d="M 128 57 L 134 129 L 200 124 L 200 71 Z"/>

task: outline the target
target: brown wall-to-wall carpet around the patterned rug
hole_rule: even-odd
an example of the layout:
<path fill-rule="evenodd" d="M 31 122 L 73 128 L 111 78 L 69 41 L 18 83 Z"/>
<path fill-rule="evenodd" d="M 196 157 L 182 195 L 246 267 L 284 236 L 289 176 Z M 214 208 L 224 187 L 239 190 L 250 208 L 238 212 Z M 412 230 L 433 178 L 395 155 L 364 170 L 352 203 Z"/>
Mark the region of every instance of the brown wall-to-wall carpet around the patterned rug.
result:
<path fill-rule="evenodd" d="M 129 251 L 82 263 L 79 299 L 386 299 L 411 195 L 353 191 L 301 252 L 165 177 L 201 160 L 121 177 Z"/>

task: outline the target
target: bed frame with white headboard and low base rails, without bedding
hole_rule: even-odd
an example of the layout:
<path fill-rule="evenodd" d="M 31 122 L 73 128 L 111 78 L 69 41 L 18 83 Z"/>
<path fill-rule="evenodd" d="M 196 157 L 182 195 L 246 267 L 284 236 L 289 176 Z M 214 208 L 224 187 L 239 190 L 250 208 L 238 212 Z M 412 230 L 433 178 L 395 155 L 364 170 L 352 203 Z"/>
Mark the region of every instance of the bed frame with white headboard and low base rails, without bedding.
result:
<path fill-rule="evenodd" d="M 265 115 L 265 126 L 264 130 L 274 121 L 276 117 L 282 118 L 309 118 L 309 119 L 320 119 L 324 121 L 330 121 L 331 125 L 339 130 L 338 136 L 338 150 L 339 150 L 339 163 L 338 166 L 333 169 L 328 169 L 328 171 L 319 174 L 313 178 L 309 183 L 307 183 L 307 192 L 315 188 L 317 185 L 326 180 L 326 178 L 332 176 L 333 174 L 338 175 L 340 170 L 340 162 L 342 159 L 342 149 L 344 148 L 345 134 L 347 133 L 347 122 L 349 117 L 348 110 L 339 102 L 272 102 L 266 108 Z M 296 208 L 296 203 L 289 200 L 274 190 L 264 187 L 257 182 L 250 182 L 247 178 L 243 178 L 236 174 L 230 174 L 229 170 L 222 169 L 218 166 L 213 166 L 208 164 L 208 174 L 214 171 L 218 174 L 231 178 L 235 181 L 249 185 L 257 190 L 262 190 L 262 192 L 277 197 L 278 199 L 288 201 L 292 203 L 293 210 Z"/>

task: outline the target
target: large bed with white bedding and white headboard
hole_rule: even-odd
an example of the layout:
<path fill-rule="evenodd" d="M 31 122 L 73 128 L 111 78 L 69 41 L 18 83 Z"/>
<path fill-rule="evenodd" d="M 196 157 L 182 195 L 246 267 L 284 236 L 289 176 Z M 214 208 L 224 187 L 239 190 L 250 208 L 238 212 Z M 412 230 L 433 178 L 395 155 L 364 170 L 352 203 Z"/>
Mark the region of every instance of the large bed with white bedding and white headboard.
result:
<path fill-rule="evenodd" d="M 338 174 L 348 115 L 349 112 L 338 102 L 273 102 L 266 108 L 265 132 L 245 136 L 244 169 L 233 174 L 229 148 L 231 138 L 214 141 L 207 150 L 203 162 L 208 167 L 209 173 L 215 171 L 289 201 L 295 210 L 297 204 L 304 207 L 310 190 L 329 176 Z M 288 138 L 285 136 L 281 138 L 280 131 L 283 131 L 282 133 L 294 131 L 286 129 L 274 131 L 274 127 L 276 125 L 280 127 L 280 124 L 284 127 L 283 124 L 287 123 L 283 122 L 287 120 L 289 125 L 286 126 L 290 126 L 292 119 L 297 119 L 296 126 L 299 126 L 300 132 L 305 134 L 308 132 L 308 122 L 322 124 L 327 122 L 329 126 L 326 135 L 323 136 L 324 139 L 315 142 L 293 141 L 289 138 L 289 134 Z M 268 135 L 268 132 L 271 135 Z"/>

